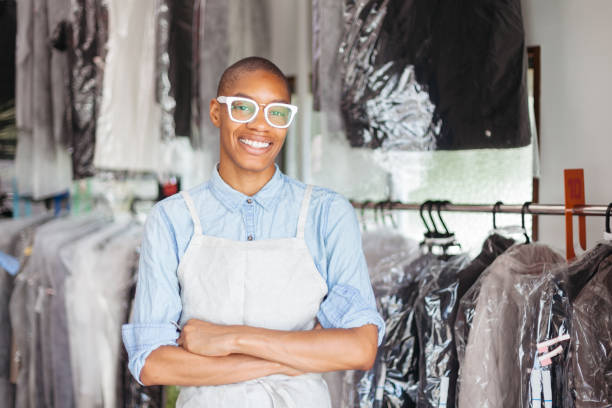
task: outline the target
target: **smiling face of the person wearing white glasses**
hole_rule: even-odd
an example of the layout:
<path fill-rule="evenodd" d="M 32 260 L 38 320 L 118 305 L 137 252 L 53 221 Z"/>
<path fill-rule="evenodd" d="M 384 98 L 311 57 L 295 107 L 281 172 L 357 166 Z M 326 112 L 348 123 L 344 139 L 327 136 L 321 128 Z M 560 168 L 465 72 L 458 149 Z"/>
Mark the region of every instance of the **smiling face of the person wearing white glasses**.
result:
<path fill-rule="evenodd" d="M 285 82 L 268 71 L 247 71 L 232 81 L 222 96 L 252 99 L 260 104 L 260 109 L 251 122 L 236 123 L 231 120 L 226 104 L 214 99 L 210 102 L 210 118 L 221 137 L 219 171 L 235 176 L 272 177 L 274 159 L 283 147 L 287 129 L 270 126 L 264 118 L 263 105 L 290 103 Z"/>

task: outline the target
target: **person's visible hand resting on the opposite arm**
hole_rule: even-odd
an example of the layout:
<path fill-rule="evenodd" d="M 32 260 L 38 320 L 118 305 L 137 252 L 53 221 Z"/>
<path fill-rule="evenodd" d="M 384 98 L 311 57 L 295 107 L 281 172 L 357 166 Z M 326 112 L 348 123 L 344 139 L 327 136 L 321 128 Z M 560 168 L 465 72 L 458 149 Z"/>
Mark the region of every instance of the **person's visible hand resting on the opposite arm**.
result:
<path fill-rule="evenodd" d="M 185 350 L 202 356 L 223 357 L 233 353 L 235 328 L 189 319 L 177 343 Z"/>

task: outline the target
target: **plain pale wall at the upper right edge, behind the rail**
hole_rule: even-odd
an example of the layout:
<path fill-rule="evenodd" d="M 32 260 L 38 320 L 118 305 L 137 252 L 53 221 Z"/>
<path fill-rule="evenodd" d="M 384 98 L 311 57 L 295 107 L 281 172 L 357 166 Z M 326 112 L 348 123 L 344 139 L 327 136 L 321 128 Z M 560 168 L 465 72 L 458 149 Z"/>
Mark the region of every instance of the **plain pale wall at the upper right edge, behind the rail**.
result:
<path fill-rule="evenodd" d="M 522 0 L 527 45 L 541 46 L 540 201 L 562 203 L 563 169 L 584 168 L 586 200 L 612 201 L 612 2 Z M 576 225 L 576 223 L 575 223 Z M 604 221 L 587 218 L 587 243 Z M 561 217 L 540 217 L 540 240 L 565 248 Z"/>

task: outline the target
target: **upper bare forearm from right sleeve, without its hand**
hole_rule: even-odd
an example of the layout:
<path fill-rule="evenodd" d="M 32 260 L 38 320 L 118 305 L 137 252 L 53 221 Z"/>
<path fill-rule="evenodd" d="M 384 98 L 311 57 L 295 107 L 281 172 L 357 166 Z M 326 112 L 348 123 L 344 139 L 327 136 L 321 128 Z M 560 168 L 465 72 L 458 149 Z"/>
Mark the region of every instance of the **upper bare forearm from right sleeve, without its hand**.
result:
<path fill-rule="evenodd" d="M 367 370 L 376 357 L 377 329 L 278 331 L 240 326 L 234 353 L 276 361 L 306 372 Z"/>

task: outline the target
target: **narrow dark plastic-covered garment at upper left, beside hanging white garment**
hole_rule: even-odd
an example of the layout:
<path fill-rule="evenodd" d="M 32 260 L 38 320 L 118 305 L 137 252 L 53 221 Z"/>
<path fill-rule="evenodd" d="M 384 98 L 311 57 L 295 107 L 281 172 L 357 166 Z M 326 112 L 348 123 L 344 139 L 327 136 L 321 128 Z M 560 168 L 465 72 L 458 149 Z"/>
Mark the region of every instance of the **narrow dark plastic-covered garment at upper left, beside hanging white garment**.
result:
<path fill-rule="evenodd" d="M 102 81 L 108 10 L 103 0 L 73 1 L 69 41 L 69 120 L 74 179 L 94 175 L 96 124 L 102 103 Z"/>

